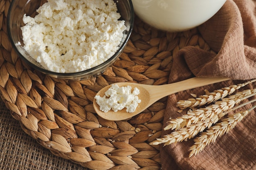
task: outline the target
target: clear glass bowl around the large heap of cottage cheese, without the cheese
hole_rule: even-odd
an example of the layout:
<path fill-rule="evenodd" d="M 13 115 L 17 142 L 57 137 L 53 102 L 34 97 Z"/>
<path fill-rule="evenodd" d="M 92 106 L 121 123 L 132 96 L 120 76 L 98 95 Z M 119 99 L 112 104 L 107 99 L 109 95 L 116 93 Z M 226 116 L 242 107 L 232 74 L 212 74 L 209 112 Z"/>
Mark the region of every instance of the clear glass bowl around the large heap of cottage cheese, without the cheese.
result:
<path fill-rule="evenodd" d="M 38 9 L 38 7 L 40 7 L 44 2 L 47 2 L 47 0 L 13 0 L 10 4 L 7 16 L 7 31 L 11 44 L 22 60 L 32 68 L 52 77 L 61 79 L 90 79 L 92 77 L 97 77 L 106 71 L 106 69 L 111 66 L 124 51 L 132 32 L 134 11 L 131 0 L 114 0 L 117 4 L 117 12 L 121 15 L 120 20 L 125 20 L 126 25 L 126 30 L 123 32 L 124 36 L 116 53 L 102 64 L 85 71 L 75 73 L 56 73 L 45 69 L 23 48 L 24 43 L 22 41 L 22 31 L 20 29 L 25 25 L 22 21 L 23 15 L 26 13 L 26 15 L 33 17 L 36 14 L 36 9 Z"/>

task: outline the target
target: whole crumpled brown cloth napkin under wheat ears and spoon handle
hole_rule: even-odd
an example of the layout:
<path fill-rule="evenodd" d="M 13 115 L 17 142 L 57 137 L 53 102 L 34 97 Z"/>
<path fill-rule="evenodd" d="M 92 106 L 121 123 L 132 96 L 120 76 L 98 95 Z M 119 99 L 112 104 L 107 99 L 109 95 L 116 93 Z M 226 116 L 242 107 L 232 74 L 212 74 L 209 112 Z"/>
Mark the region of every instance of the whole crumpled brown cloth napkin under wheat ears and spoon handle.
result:
<path fill-rule="evenodd" d="M 174 56 L 169 83 L 194 76 L 222 76 L 236 81 L 212 84 L 169 96 L 164 122 L 170 117 L 175 119 L 186 113 L 178 113 L 176 103 L 180 99 L 191 98 L 191 93 L 203 95 L 204 89 L 213 91 L 256 78 L 256 1 L 227 0 L 220 11 L 198 29 L 216 54 L 193 46 L 181 49 Z M 248 88 L 255 88 L 254 84 L 244 89 Z M 252 111 L 227 135 L 219 137 L 214 144 L 191 158 L 189 148 L 194 143 L 193 139 L 161 147 L 162 169 L 256 170 L 255 127 L 255 111 Z M 168 133 L 171 130 L 162 131 L 162 135 Z"/>

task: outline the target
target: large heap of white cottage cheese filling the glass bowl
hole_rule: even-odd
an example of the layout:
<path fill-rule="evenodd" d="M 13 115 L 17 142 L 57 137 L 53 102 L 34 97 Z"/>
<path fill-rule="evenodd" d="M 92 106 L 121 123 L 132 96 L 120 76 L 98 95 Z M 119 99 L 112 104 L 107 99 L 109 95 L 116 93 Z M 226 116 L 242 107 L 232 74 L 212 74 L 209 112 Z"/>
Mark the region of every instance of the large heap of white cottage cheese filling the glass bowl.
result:
<path fill-rule="evenodd" d="M 58 73 L 84 71 L 108 60 L 126 29 L 113 0 L 48 0 L 23 16 L 24 49 Z"/>

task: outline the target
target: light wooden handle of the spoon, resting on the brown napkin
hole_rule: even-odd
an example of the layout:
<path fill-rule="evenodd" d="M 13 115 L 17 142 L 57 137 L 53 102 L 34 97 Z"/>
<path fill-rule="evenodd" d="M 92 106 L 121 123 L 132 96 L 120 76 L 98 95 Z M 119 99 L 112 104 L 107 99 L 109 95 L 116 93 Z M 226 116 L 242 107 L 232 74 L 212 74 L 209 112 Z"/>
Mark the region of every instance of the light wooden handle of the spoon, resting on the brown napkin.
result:
<path fill-rule="evenodd" d="M 223 82 L 229 80 L 226 77 L 193 77 L 190 79 L 183 80 L 181 82 L 176 82 L 172 84 L 164 84 L 160 86 L 145 86 L 145 88 L 150 93 L 150 103 L 154 103 L 163 97 L 168 95 L 186 91 L 192 88 L 197 88 L 201 86 L 206 86 L 209 84 L 214 84 L 218 82 Z"/>

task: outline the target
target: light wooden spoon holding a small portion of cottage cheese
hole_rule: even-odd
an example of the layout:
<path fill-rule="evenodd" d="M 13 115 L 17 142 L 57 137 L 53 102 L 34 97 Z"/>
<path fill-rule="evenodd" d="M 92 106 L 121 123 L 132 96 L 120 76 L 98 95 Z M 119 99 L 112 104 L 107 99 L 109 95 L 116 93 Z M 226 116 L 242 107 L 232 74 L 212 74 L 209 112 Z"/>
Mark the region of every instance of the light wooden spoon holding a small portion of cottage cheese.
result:
<path fill-rule="evenodd" d="M 113 121 L 126 120 L 141 113 L 146 108 L 151 106 L 153 103 L 157 102 L 159 99 L 162 99 L 163 97 L 166 97 L 168 95 L 171 95 L 180 91 L 185 91 L 192 88 L 206 86 L 209 84 L 222 82 L 226 80 L 229 80 L 229 79 L 223 78 L 223 77 L 193 77 L 190 79 L 183 80 L 181 82 L 164 84 L 159 86 L 127 83 L 127 82 L 115 83 L 119 87 L 131 86 L 132 89 L 134 89 L 135 87 L 139 89 L 140 93 L 138 97 L 139 99 L 141 99 L 141 103 L 139 103 L 139 106 L 136 108 L 135 112 L 127 113 L 126 108 L 124 108 L 123 110 L 119 110 L 117 112 L 114 112 L 113 110 L 109 110 L 107 113 L 104 113 L 99 109 L 99 105 L 96 103 L 96 99 L 93 100 L 93 107 L 96 113 L 104 119 L 113 120 Z M 97 95 L 100 95 L 101 97 L 103 97 L 105 95 L 105 92 L 110 88 L 110 86 L 112 86 L 112 84 L 102 88 L 97 93 Z"/>

